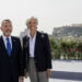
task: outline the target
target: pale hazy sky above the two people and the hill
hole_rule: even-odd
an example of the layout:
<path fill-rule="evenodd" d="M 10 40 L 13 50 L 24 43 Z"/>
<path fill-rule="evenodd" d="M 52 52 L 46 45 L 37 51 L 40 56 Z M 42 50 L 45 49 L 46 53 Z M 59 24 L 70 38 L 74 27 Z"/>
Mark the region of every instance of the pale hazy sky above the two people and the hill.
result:
<path fill-rule="evenodd" d="M 33 15 L 38 19 L 38 30 L 51 34 L 54 27 L 82 23 L 82 0 L 0 0 L 0 24 L 10 19 L 12 35 L 20 35 Z"/>

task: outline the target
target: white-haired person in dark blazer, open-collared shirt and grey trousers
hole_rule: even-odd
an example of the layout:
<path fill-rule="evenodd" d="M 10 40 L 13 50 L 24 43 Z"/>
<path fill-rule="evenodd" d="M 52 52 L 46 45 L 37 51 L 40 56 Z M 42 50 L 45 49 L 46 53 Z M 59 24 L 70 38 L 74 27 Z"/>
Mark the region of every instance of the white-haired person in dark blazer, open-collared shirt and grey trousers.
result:
<path fill-rule="evenodd" d="M 26 22 L 28 33 L 23 38 L 24 69 L 31 82 L 48 82 L 51 69 L 51 54 L 48 35 L 37 31 L 37 19 Z"/>

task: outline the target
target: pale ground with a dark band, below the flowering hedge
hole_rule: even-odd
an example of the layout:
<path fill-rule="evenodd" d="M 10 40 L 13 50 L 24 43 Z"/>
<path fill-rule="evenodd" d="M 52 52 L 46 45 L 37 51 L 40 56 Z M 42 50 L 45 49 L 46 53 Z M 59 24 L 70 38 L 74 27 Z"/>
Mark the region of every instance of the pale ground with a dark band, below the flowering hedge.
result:
<path fill-rule="evenodd" d="M 82 82 L 82 60 L 52 60 L 49 82 Z"/>

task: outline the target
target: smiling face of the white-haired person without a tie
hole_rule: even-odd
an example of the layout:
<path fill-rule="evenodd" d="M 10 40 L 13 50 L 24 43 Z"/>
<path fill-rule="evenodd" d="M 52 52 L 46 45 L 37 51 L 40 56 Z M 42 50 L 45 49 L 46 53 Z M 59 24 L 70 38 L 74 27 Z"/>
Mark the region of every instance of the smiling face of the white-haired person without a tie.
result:
<path fill-rule="evenodd" d="M 31 19 L 31 21 L 27 24 L 27 27 L 28 27 L 30 32 L 35 33 L 36 27 L 37 27 L 36 21 L 34 19 Z"/>

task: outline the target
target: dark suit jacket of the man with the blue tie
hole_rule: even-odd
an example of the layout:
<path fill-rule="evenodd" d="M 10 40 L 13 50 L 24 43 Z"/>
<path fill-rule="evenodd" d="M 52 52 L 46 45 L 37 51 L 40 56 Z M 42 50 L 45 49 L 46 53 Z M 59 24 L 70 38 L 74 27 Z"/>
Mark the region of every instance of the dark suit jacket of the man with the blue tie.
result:
<path fill-rule="evenodd" d="M 3 38 L 2 36 L 0 37 L 0 82 L 19 82 L 19 77 L 24 75 L 20 39 L 13 36 L 11 39 L 12 51 L 11 57 L 9 57 Z"/>

